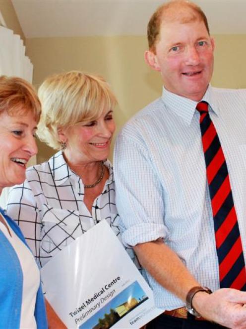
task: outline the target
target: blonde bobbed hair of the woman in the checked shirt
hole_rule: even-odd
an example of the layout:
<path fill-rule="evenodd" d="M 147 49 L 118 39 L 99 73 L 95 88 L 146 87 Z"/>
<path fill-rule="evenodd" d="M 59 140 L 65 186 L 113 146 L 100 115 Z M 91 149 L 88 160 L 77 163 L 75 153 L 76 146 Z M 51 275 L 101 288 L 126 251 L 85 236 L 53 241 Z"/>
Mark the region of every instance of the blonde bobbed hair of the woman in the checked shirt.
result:
<path fill-rule="evenodd" d="M 48 77 L 40 86 L 38 95 L 42 114 L 37 134 L 54 149 L 61 149 L 59 128 L 96 120 L 105 110 L 117 104 L 102 77 L 79 71 Z"/>

